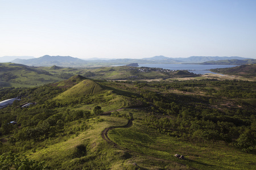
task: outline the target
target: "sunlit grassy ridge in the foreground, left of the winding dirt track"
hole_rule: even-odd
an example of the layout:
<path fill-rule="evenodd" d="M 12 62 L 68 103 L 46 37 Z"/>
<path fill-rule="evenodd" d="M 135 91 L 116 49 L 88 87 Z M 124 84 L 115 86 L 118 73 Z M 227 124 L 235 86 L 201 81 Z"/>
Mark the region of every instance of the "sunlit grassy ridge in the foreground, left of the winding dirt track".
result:
<path fill-rule="evenodd" d="M 90 128 L 79 135 L 69 135 L 62 141 L 56 143 L 55 139 L 44 142 L 45 146 L 36 152 L 27 152 L 31 159 L 45 160 L 51 168 L 69 169 L 92 167 L 92 169 L 120 169 L 129 167 L 125 160 L 131 155 L 124 151 L 108 146 L 101 138 L 101 131 L 109 126 L 120 126 L 126 124 L 125 119 L 117 117 L 101 116 L 103 122 L 97 122 L 98 118 L 88 121 Z M 54 143 L 54 144 L 51 144 Z M 80 158 L 73 158 L 74 150 L 79 145 L 86 146 L 86 154 Z M 126 168 L 125 168 L 126 169 Z"/>

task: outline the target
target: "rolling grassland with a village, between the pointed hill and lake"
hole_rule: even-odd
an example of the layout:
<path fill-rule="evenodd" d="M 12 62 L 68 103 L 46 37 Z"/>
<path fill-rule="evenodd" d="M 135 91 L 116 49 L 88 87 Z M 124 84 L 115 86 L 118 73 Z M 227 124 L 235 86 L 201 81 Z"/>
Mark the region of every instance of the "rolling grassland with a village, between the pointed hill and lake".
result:
<path fill-rule="evenodd" d="M 189 72 L 185 74 L 177 73 L 177 71 L 173 72 L 166 69 L 153 69 L 147 67 L 120 66 L 74 69 L 69 67 L 58 67 L 55 65 L 51 67 L 31 67 L 14 63 L 1 63 L 0 85 L 1 87 L 42 86 L 44 84 L 69 79 L 77 74 L 85 76 L 86 78 L 100 80 L 166 79 L 196 76 Z M 58 86 L 61 86 L 61 84 Z"/>

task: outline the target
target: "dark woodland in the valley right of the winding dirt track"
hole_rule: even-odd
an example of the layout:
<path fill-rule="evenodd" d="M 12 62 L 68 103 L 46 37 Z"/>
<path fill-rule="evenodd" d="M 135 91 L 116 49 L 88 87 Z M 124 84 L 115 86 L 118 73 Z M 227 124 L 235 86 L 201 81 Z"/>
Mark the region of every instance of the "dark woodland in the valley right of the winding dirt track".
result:
<path fill-rule="evenodd" d="M 246 103 L 237 106 L 241 104 L 240 100 L 248 99 L 248 96 L 255 99 L 253 83 L 236 80 L 202 80 L 199 84 L 196 82 L 151 82 L 147 86 L 162 89 L 175 86 L 208 88 L 215 84 L 221 86 L 220 91 L 224 95 L 219 95 L 219 92 L 209 97 L 144 91 L 141 93 L 141 99 L 151 106 L 153 114 L 145 116 L 142 123 L 160 133 L 188 140 L 233 143 L 243 151 L 253 150 L 256 146 L 255 108 Z M 146 87 L 145 83 L 143 86 Z M 229 95 L 225 95 L 225 92 Z M 232 95 L 236 92 L 241 95 Z M 226 97 L 232 100 L 226 100 Z M 230 102 L 233 105 L 226 107 L 224 103 Z"/>

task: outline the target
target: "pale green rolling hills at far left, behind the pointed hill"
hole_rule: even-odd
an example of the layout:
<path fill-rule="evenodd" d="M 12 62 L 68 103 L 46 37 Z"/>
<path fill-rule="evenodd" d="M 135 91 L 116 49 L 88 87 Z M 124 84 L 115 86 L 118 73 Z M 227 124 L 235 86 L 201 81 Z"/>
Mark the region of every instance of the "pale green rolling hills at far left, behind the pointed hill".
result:
<path fill-rule="evenodd" d="M 69 79 L 82 69 L 34 67 L 16 63 L 0 63 L 1 87 L 34 87 Z"/>

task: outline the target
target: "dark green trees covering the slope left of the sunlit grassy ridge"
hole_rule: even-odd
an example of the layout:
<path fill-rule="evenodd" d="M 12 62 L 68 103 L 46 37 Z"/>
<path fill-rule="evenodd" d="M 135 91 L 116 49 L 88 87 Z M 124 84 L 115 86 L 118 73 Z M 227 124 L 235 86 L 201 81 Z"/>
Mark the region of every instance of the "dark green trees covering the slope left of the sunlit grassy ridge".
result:
<path fill-rule="evenodd" d="M 24 103 L 26 101 L 37 103 L 27 108 L 17 108 L 20 103 L 16 103 L 0 109 L 0 137 L 4 136 L 5 139 L 4 142 L 0 141 L 0 155 L 7 151 L 20 152 L 36 148 L 37 143 L 50 138 L 78 135 L 90 128 L 87 124 L 89 118 L 103 112 L 99 106 L 96 106 L 92 112 L 75 110 L 69 105 L 56 107 L 57 103 L 52 99 L 61 92 L 63 89 L 52 86 L 9 88 L 0 91 L 3 98 L 20 96 Z M 10 124 L 14 120 L 17 124 Z M 15 169 L 14 165 L 12 167 Z"/>

